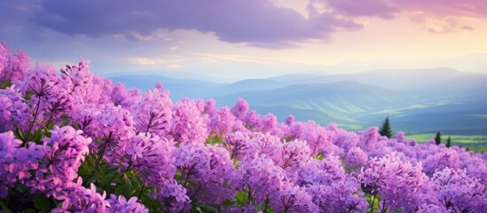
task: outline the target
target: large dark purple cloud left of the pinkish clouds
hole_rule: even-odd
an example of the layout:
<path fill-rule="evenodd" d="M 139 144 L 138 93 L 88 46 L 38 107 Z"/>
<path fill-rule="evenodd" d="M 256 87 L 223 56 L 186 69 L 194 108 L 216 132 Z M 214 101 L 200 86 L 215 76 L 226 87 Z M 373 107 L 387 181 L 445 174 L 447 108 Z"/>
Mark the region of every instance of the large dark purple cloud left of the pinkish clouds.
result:
<path fill-rule="evenodd" d="M 355 21 L 295 10 L 264 0 L 74 0 L 43 1 L 36 24 L 66 35 L 101 37 L 150 35 L 160 28 L 196 29 L 229 43 L 279 48 L 308 39 L 326 39 L 337 29 L 359 29 Z"/>

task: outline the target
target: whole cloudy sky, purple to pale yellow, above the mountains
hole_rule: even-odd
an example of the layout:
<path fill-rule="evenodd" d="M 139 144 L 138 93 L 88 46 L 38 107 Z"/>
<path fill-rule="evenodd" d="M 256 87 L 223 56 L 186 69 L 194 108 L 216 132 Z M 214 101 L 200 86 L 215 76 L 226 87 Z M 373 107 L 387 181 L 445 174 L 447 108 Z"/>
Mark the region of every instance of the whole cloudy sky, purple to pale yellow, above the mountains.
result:
<path fill-rule="evenodd" d="M 0 26 L 35 63 L 101 75 L 487 73 L 485 0 L 2 0 Z"/>

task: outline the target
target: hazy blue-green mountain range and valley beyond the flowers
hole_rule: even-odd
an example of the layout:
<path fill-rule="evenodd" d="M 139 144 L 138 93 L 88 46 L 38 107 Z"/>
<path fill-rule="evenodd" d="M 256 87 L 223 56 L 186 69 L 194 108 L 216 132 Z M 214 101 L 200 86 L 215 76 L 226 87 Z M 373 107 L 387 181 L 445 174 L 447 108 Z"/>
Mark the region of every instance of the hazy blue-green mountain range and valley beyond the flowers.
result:
<path fill-rule="evenodd" d="M 197 76 L 197 75 L 195 75 Z M 163 75 L 109 76 L 142 91 L 160 81 L 173 100 L 215 99 L 232 106 L 246 99 L 259 114 L 288 114 L 296 120 L 337 122 L 348 130 L 380 126 L 389 116 L 396 130 L 487 136 L 487 75 L 448 67 L 378 69 L 356 74 L 305 73 L 234 83 Z M 487 142 L 487 141 L 485 141 Z"/>

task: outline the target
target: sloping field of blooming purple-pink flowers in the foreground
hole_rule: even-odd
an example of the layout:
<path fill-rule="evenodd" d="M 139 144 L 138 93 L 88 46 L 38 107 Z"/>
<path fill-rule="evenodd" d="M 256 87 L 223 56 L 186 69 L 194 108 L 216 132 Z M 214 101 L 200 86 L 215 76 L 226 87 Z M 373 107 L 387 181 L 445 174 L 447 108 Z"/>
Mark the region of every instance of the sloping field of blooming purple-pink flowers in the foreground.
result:
<path fill-rule="evenodd" d="M 485 212 L 487 154 L 127 89 L 0 43 L 3 212 Z"/>

